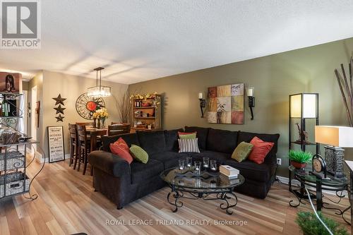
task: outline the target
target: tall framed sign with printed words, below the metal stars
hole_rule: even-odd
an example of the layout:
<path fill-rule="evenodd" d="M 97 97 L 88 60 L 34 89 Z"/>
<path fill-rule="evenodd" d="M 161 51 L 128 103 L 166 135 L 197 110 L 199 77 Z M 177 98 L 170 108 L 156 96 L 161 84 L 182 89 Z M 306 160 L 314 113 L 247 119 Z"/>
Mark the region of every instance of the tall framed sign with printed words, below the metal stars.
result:
<path fill-rule="evenodd" d="M 48 126 L 49 163 L 64 161 L 64 128 Z"/>

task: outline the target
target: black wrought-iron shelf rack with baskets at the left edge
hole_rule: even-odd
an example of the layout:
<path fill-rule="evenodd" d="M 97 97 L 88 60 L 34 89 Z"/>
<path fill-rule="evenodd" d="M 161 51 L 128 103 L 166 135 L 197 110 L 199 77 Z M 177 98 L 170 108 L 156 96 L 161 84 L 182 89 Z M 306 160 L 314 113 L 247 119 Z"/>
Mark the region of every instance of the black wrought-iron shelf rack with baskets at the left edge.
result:
<path fill-rule="evenodd" d="M 23 111 L 20 106 L 20 97 L 22 94 L 0 92 L 0 124 L 13 130 L 13 134 L 18 134 L 18 119 L 22 118 Z M 27 135 L 20 133 L 24 137 Z M 2 137 L 2 136 L 1 136 Z M 16 136 L 15 136 L 16 137 Z M 35 154 L 31 157 L 27 156 L 28 147 L 39 143 L 35 140 L 18 141 L 17 138 L 11 143 L 4 144 L 1 138 L 0 142 L 0 200 L 15 195 L 25 195 L 25 198 L 35 200 L 36 194 L 30 194 L 30 186 L 33 179 L 43 169 L 45 162 L 42 163 L 40 171 L 33 176 L 32 179 L 27 175 L 27 168 L 34 162 Z M 28 161 L 29 160 L 29 161 Z"/>

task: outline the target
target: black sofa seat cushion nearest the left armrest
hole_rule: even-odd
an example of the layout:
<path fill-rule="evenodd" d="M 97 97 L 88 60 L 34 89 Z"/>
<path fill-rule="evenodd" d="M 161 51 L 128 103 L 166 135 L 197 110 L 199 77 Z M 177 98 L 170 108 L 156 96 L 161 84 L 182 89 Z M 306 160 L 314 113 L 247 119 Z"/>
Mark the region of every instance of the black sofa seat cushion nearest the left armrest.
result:
<path fill-rule="evenodd" d="M 148 179 L 158 176 L 163 170 L 162 162 L 155 159 L 149 159 L 146 164 L 141 162 L 132 162 L 130 164 L 131 169 L 131 182 L 132 183 L 144 183 Z"/>

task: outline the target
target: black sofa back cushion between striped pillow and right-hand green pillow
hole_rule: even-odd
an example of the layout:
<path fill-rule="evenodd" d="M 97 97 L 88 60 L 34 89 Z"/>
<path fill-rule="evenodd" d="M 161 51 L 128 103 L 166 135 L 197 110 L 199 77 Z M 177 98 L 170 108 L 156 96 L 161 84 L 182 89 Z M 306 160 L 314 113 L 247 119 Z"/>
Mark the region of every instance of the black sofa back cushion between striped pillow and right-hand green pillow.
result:
<path fill-rule="evenodd" d="M 238 145 L 238 132 L 210 128 L 207 137 L 207 150 L 232 154 Z"/>

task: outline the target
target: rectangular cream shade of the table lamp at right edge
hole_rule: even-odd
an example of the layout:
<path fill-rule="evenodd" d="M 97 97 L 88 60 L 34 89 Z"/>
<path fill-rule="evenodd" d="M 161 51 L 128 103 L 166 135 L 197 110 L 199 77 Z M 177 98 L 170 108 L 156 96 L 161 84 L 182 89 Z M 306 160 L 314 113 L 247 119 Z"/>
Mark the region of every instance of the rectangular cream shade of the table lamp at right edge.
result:
<path fill-rule="evenodd" d="M 315 141 L 335 147 L 353 147 L 353 128 L 348 126 L 315 126 Z"/>

